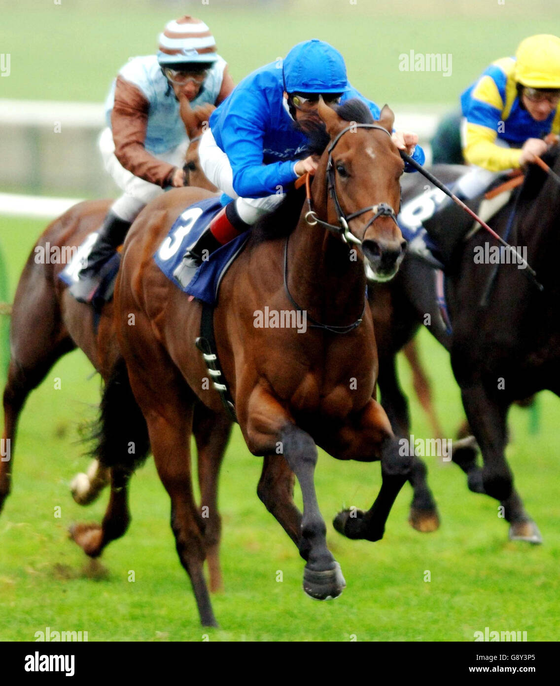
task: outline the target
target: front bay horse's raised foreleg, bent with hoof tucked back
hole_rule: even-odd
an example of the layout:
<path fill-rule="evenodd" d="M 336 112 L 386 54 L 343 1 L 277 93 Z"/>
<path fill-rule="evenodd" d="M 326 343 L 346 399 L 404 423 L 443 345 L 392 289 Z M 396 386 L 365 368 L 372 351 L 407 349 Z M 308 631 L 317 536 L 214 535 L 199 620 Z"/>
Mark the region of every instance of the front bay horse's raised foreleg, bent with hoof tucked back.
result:
<path fill-rule="evenodd" d="M 391 431 L 385 410 L 373 399 L 352 424 L 339 432 L 342 449 L 332 454 L 342 460 L 381 460 L 381 488 L 369 510 L 343 510 L 334 518 L 334 528 L 349 539 L 379 541 L 389 512 L 402 486 L 411 478 L 413 460 L 400 454 L 399 442 Z"/>

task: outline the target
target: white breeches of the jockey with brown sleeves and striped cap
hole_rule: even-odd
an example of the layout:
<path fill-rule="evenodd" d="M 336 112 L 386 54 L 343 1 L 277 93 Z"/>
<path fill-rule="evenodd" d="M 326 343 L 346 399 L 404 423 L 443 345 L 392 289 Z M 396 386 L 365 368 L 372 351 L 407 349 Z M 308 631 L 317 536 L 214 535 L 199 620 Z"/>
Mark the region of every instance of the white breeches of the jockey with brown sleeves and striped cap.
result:
<path fill-rule="evenodd" d="M 164 191 L 160 186 L 134 176 L 131 171 L 128 171 L 128 169 L 121 165 L 114 155 L 113 135 L 110 128 L 106 128 L 101 132 L 97 145 L 99 145 L 106 170 L 112 176 L 117 186 L 124 191 L 123 195 L 114 201 L 111 210 L 125 222 L 133 222 L 141 209 L 150 200 L 154 200 Z M 154 157 L 158 160 L 169 162 L 174 167 L 182 167 L 187 147 L 188 139 L 177 147 L 173 147 L 172 150 L 167 150 L 167 152 L 160 155 L 154 155 Z"/>

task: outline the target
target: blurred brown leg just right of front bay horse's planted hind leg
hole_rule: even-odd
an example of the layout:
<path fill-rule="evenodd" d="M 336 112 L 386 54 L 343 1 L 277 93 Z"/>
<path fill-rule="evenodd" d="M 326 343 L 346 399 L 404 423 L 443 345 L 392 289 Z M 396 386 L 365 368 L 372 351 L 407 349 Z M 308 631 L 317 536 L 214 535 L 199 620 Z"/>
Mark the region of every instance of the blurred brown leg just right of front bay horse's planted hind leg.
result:
<path fill-rule="evenodd" d="M 202 518 L 206 520 L 204 545 L 212 593 L 223 588 L 219 560 L 221 517 L 218 510 L 218 480 L 231 430 L 232 423 L 225 415 L 210 412 L 203 405 L 195 407 L 193 434 L 197 445 Z"/>

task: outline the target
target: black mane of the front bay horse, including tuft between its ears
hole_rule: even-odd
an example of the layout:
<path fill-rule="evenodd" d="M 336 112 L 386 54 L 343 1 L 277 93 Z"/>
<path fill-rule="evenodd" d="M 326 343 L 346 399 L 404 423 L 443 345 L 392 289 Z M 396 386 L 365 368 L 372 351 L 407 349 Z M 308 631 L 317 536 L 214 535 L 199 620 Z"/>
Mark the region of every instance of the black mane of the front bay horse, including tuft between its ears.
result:
<path fill-rule="evenodd" d="M 354 97 L 334 108 L 337 115 L 344 121 L 355 121 L 358 124 L 369 124 L 375 121 L 369 108 L 363 100 Z M 306 147 L 298 156 L 304 159 L 309 155 L 322 155 L 330 143 L 330 136 L 324 123 L 312 123 L 305 132 Z M 305 187 L 292 188 L 286 197 L 272 211 L 260 217 L 252 229 L 253 240 L 257 243 L 289 236 L 297 226 L 305 201 Z"/>

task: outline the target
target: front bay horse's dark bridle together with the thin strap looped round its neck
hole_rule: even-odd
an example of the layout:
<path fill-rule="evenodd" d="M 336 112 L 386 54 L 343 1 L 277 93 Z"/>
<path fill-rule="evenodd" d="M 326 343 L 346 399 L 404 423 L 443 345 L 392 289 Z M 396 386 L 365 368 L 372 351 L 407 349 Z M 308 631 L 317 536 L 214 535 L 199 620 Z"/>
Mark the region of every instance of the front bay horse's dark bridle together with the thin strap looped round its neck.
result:
<path fill-rule="evenodd" d="M 305 220 L 310 226 L 315 226 L 315 224 L 320 224 L 321 226 L 324 226 L 325 228 L 328 228 L 331 231 L 335 231 L 338 233 L 343 241 L 348 244 L 348 243 L 354 243 L 361 245 L 362 241 L 359 238 L 356 238 L 352 232 L 350 231 L 350 228 L 348 228 L 348 222 L 352 221 L 355 217 L 359 217 L 360 215 L 363 215 L 366 212 L 372 211 L 374 213 L 374 216 L 367 222 L 364 228 L 364 235 L 369 226 L 371 226 L 375 220 L 378 217 L 382 216 L 387 216 L 391 217 L 395 224 L 397 223 L 397 217 L 395 215 L 395 211 L 393 208 L 387 204 L 386 202 L 380 202 L 379 204 L 376 205 L 370 205 L 369 207 L 364 207 L 361 210 L 358 210 L 357 212 L 352 212 L 352 214 L 347 215 L 343 211 L 341 204 L 339 202 L 339 198 L 337 196 L 337 188 L 334 183 L 334 167 L 332 166 L 332 150 L 334 150 L 334 146 L 337 145 L 343 134 L 345 134 L 347 131 L 350 131 L 354 127 L 359 127 L 359 128 L 374 128 L 374 129 L 379 129 L 380 131 L 385 131 L 385 133 L 391 137 L 391 134 L 387 129 L 383 128 L 382 126 L 378 126 L 378 124 L 350 124 L 350 126 L 347 126 L 345 129 L 343 129 L 339 134 L 337 134 L 337 137 L 332 141 L 332 143 L 328 147 L 328 162 L 327 162 L 327 190 L 328 193 L 330 194 L 330 197 L 332 198 L 334 202 L 334 208 L 337 211 L 337 217 L 339 219 L 339 224 L 340 226 L 336 226 L 335 224 L 329 224 L 328 222 L 324 222 L 323 220 L 319 219 L 317 217 L 317 213 L 315 213 L 315 210 L 313 210 L 313 201 L 311 200 L 311 181 L 309 178 L 309 174 L 306 174 L 305 176 L 305 187 L 306 187 L 306 202 L 308 204 L 308 211 L 306 212 L 305 215 Z M 293 299 L 289 288 L 288 288 L 288 242 L 289 242 L 289 236 L 286 239 L 286 243 L 284 245 L 284 290 L 286 292 L 286 295 L 288 296 L 288 299 L 290 300 L 291 304 L 297 311 L 303 312 L 304 309 L 300 307 L 300 305 L 297 305 L 295 300 Z M 359 319 L 356 319 L 355 322 L 352 324 L 348 324 L 348 326 L 335 326 L 331 324 L 321 324 L 321 322 L 317 322 L 317 320 L 313 319 L 311 316 L 309 316 L 306 312 L 306 319 L 311 322 L 309 324 L 309 327 L 311 329 L 323 329 L 324 331 L 328 331 L 329 333 L 350 333 L 350 331 L 354 331 L 354 329 L 357 329 L 360 324 L 362 323 L 365 308 L 367 304 L 367 296 L 364 298 L 364 306 L 362 310 L 362 314 L 360 315 Z"/>

